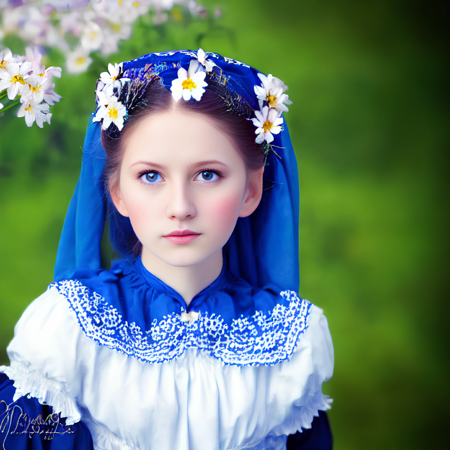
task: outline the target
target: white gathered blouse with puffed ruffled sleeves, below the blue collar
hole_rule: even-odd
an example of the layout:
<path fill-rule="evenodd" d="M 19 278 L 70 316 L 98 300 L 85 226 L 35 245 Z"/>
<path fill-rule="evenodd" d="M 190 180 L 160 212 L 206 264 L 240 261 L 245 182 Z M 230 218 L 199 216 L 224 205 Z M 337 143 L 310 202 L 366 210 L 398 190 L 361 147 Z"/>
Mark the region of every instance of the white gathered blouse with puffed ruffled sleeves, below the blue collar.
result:
<path fill-rule="evenodd" d="M 314 305 L 277 364 L 225 364 L 193 346 L 149 363 L 88 337 L 52 286 L 27 307 L 7 352 L 0 372 L 14 380 L 14 401 L 30 394 L 67 425 L 82 420 L 95 450 L 285 449 L 287 435 L 311 428 L 331 403 L 322 383 L 333 375 L 333 343 Z"/>

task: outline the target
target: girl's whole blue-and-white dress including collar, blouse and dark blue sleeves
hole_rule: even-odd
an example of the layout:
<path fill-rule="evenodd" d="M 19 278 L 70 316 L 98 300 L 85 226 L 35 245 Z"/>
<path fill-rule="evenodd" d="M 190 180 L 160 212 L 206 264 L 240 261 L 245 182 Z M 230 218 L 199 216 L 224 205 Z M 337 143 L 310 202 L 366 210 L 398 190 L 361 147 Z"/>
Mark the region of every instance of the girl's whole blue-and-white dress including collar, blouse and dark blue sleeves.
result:
<path fill-rule="evenodd" d="M 185 438 L 192 449 L 331 449 L 321 386 L 331 377 L 332 353 L 319 308 L 275 285 L 253 288 L 226 264 L 189 306 L 140 258 L 115 261 L 109 271 L 78 270 L 72 280 L 50 284 L 16 326 L 11 366 L 0 367 L 1 440 L 5 450 L 178 449 Z M 184 369 L 188 378 L 180 378 Z M 193 414 L 205 408 L 211 423 L 196 429 Z M 148 437 L 144 425 L 151 424 L 137 419 L 142 415 L 159 428 L 185 426 L 187 434 Z"/>

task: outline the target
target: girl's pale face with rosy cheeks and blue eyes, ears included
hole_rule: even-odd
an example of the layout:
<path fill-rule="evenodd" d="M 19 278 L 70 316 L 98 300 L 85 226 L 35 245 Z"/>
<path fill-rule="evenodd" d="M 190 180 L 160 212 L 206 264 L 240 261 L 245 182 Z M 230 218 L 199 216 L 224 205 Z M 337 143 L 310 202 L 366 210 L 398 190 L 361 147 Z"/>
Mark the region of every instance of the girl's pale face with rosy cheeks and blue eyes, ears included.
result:
<path fill-rule="evenodd" d="M 111 196 L 143 256 L 179 267 L 205 261 L 261 199 L 263 169 L 247 174 L 229 138 L 201 114 L 149 115 L 124 144 L 120 189 Z"/>

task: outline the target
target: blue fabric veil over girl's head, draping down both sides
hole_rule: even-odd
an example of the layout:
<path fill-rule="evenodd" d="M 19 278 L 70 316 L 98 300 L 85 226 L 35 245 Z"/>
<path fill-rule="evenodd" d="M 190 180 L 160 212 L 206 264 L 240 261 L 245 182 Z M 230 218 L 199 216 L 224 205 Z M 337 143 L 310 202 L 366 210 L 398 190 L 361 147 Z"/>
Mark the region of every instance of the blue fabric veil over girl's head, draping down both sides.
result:
<path fill-rule="evenodd" d="M 134 69 L 152 64 L 159 71 L 163 84 L 170 89 L 178 68 L 187 70 L 189 62 L 196 57 L 196 52 L 191 51 L 152 53 L 124 62 L 123 70 L 129 77 Z M 208 59 L 229 76 L 233 90 L 253 109 L 259 109 L 254 85 L 261 85 L 261 80 L 256 69 L 218 54 L 210 54 Z M 100 131 L 100 122 L 93 122 L 91 117 L 84 140 L 80 177 L 59 240 L 55 281 L 71 279 L 80 269 L 105 269 L 101 264 L 100 243 L 107 220 L 108 196 L 103 182 L 105 152 Z M 252 286 L 270 283 L 280 289 L 298 292 L 298 171 L 286 123 L 274 138 L 272 144 L 279 157 L 272 152 L 268 154 L 261 203 L 251 216 L 238 218 L 226 245 L 226 263 L 232 274 L 246 279 Z M 108 216 L 112 246 L 128 259 L 128 243 L 134 237 L 130 220 L 120 216 L 117 210 Z"/>

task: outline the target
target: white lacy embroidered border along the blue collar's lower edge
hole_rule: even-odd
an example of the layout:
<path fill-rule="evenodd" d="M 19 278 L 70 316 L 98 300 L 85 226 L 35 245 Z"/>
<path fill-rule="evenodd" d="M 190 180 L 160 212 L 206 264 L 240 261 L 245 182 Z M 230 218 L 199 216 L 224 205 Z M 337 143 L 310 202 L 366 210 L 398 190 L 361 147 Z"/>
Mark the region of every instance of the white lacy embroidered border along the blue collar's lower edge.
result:
<path fill-rule="evenodd" d="M 182 309 L 180 314 L 153 320 L 150 330 L 127 323 L 119 311 L 76 280 L 51 283 L 76 313 L 85 335 L 100 345 L 148 363 L 161 363 L 198 348 L 228 365 L 274 365 L 288 360 L 308 327 L 311 303 L 294 291 L 280 295 L 289 303 L 277 304 L 269 314 L 256 311 L 227 324 L 220 315 Z"/>

